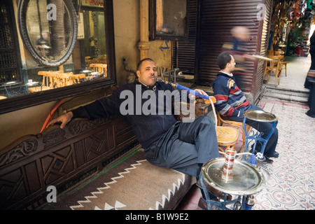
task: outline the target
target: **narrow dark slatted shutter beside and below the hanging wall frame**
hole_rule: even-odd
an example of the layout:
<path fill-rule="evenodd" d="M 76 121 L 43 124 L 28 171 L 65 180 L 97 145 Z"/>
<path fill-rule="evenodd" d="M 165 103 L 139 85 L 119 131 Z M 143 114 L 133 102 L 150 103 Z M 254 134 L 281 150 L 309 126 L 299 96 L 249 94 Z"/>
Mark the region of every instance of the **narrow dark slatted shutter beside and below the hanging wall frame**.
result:
<path fill-rule="evenodd" d="M 195 72 L 195 41 L 197 31 L 197 0 L 188 1 L 189 23 L 188 40 L 173 41 L 173 67 L 179 68 L 184 73 Z M 177 43 L 177 44 L 176 44 Z"/>

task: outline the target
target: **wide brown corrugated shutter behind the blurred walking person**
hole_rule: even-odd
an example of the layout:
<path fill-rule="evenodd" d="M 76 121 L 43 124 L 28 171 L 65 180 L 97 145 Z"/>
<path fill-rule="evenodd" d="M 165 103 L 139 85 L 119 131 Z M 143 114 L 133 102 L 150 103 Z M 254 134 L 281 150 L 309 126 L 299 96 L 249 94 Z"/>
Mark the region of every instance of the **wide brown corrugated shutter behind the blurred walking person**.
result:
<path fill-rule="evenodd" d="M 272 0 L 266 1 L 270 3 Z M 264 25 L 264 20 L 258 20 L 258 13 L 260 12 L 258 4 L 260 3 L 265 3 L 265 0 L 200 1 L 200 30 L 196 42 L 198 44 L 196 54 L 197 67 L 195 70 L 195 73 L 197 73 L 197 77 L 195 77 L 197 84 L 210 85 L 216 78 L 218 73 L 216 58 L 221 52 L 223 43 L 229 40 L 232 27 L 247 27 L 251 36 L 251 40 L 246 44 L 248 54 L 260 55 L 261 34 Z M 264 54 L 263 52 L 261 53 Z M 259 87 L 255 90 L 256 78 L 253 76 L 256 76 L 257 71 L 260 71 L 263 66 L 262 63 L 246 62 L 247 72 L 240 80 L 244 86 L 243 91 L 252 92 L 252 94 L 258 94 L 261 91 L 258 90 Z"/>

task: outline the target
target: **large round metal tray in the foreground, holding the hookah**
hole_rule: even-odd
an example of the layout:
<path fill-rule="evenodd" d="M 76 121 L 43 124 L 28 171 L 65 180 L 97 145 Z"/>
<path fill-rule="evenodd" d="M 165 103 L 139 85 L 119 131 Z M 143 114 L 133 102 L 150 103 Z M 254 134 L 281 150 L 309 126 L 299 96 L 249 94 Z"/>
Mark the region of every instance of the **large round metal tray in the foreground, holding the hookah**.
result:
<path fill-rule="evenodd" d="M 265 187 L 262 172 L 249 162 L 235 160 L 233 174 L 226 179 L 223 175 L 225 158 L 215 158 L 202 166 L 202 177 L 206 186 L 230 195 L 254 195 Z"/>

